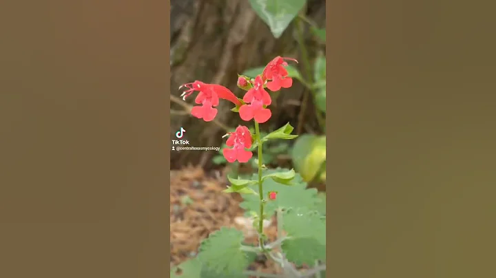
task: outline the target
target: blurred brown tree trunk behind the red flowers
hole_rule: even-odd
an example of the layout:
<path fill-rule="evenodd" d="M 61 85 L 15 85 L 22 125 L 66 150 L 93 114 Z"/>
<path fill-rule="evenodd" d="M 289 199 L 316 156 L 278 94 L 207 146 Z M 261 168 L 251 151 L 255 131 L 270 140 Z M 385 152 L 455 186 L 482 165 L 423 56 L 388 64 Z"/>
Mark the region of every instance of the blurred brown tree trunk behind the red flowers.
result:
<path fill-rule="evenodd" d="M 325 25 L 325 1 L 308 2 L 307 17 Z M 216 122 L 203 122 L 189 116 L 185 105 L 194 105 L 196 94 L 180 100 L 178 87 L 195 80 L 216 83 L 231 89 L 238 97 L 237 74 L 250 67 L 267 64 L 277 55 L 298 56 L 298 45 L 292 26 L 280 39 L 274 39 L 269 28 L 249 5 L 248 0 L 172 0 L 171 1 L 171 138 L 183 127 L 185 138 L 195 147 L 220 147 L 224 127 L 236 127 L 242 121 L 229 109 L 232 104 L 221 101 Z M 297 118 L 304 88 L 298 82 L 273 101 L 273 117 L 262 125 Z M 180 100 L 180 101 L 178 101 Z M 209 164 L 215 151 L 173 151 L 172 167 Z"/>

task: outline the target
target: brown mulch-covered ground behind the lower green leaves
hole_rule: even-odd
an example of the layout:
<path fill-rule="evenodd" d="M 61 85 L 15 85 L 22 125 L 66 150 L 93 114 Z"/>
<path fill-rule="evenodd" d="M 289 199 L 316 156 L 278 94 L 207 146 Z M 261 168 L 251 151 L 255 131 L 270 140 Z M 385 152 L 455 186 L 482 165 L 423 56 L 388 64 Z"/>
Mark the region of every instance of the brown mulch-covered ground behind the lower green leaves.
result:
<path fill-rule="evenodd" d="M 223 193 L 227 178 L 223 171 L 205 173 L 198 167 L 171 171 L 170 242 L 171 267 L 196 256 L 200 242 L 222 226 L 235 227 L 245 233 L 246 243 L 256 244 L 250 225 L 236 223 L 242 217 L 238 194 Z M 276 237 L 276 220 L 265 230 L 269 240 Z M 276 273 L 272 261 L 260 259 L 251 270 Z"/>

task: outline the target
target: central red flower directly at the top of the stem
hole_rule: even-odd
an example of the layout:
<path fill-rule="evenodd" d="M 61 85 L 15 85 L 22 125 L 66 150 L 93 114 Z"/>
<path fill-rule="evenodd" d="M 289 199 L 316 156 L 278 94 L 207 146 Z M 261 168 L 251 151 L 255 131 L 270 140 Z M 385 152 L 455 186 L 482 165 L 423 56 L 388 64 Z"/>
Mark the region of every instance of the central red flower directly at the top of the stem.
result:
<path fill-rule="evenodd" d="M 264 105 L 270 105 L 272 100 L 269 93 L 263 87 L 263 81 L 260 76 L 255 78 L 254 87 L 249 89 L 243 97 L 247 105 L 242 105 L 239 114 L 242 120 L 251 120 L 255 118 L 256 122 L 267 122 L 272 116 L 272 112 L 264 108 Z"/>

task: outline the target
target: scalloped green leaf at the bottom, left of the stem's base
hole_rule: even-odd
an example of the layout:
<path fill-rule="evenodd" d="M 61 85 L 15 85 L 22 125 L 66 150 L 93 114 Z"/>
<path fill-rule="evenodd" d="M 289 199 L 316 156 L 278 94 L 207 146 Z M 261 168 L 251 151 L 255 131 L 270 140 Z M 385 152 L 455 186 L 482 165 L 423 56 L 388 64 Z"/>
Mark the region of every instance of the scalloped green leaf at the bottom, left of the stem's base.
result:
<path fill-rule="evenodd" d="M 243 240 L 241 231 L 222 227 L 200 244 L 198 260 L 217 277 L 238 276 L 246 270 L 252 258 L 240 249 Z"/>

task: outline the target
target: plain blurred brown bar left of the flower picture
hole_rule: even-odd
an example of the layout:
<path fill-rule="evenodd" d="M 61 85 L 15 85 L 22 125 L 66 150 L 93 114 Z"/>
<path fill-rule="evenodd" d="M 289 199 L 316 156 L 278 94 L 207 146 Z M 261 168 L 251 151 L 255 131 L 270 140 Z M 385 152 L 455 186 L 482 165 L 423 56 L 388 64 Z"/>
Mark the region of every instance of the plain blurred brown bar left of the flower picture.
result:
<path fill-rule="evenodd" d="M 169 9 L 0 4 L 0 277 L 169 277 Z"/>

